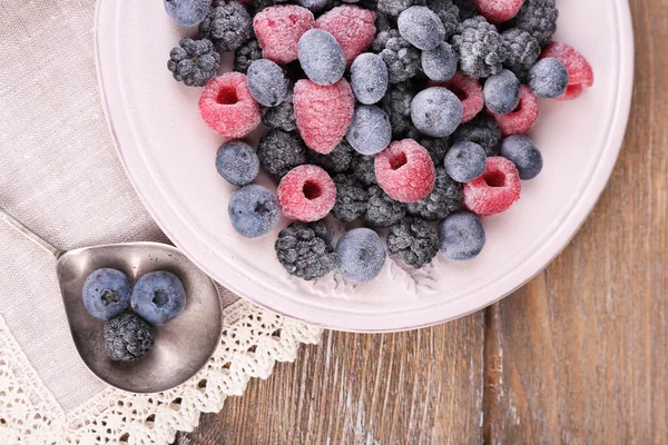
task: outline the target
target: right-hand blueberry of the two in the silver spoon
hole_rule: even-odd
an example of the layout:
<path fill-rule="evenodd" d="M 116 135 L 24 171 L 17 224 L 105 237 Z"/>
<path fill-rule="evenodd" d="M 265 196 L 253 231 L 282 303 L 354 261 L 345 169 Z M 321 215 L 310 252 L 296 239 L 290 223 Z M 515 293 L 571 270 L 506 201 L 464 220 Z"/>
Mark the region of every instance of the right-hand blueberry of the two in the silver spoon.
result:
<path fill-rule="evenodd" d="M 132 289 L 132 309 L 154 326 L 161 326 L 180 315 L 186 307 L 186 289 L 168 271 L 150 271 Z"/>

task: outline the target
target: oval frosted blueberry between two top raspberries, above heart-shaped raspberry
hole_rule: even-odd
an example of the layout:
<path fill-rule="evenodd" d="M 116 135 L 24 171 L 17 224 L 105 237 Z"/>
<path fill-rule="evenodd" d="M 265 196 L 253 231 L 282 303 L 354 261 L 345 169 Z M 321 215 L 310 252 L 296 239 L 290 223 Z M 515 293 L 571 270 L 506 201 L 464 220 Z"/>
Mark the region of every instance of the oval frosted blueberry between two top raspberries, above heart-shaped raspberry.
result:
<path fill-rule="evenodd" d="M 317 85 L 336 83 L 345 71 L 345 57 L 334 36 L 322 29 L 311 29 L 302 36 L 298 47 L 302 69 Z"/>

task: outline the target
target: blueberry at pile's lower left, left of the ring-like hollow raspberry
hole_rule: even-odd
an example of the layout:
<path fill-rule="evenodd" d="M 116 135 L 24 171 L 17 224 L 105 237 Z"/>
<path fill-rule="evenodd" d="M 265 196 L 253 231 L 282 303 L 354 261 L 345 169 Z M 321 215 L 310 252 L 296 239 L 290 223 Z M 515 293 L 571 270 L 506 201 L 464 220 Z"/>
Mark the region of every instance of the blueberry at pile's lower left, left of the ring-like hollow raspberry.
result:
<path fill-rule="evenodd" d="M 278 199 L 266 188 L 250 184 L 232 194 L 227 206 L 232 226 L 246 238 L 265 236 L 278 224 Z"/>

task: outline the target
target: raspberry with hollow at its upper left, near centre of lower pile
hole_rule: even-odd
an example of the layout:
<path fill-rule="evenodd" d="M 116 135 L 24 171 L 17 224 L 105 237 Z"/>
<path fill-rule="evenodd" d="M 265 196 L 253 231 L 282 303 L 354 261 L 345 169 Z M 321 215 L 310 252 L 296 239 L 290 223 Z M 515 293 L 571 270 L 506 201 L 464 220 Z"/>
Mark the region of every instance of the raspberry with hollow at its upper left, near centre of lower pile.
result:
<path fill-rule="evenodd" d="M 392 142 L 376 155 L 379 185 L 401 202 L 415 202 L 434 188 L 436 171 L 429 151 L 413 139 Z"/>

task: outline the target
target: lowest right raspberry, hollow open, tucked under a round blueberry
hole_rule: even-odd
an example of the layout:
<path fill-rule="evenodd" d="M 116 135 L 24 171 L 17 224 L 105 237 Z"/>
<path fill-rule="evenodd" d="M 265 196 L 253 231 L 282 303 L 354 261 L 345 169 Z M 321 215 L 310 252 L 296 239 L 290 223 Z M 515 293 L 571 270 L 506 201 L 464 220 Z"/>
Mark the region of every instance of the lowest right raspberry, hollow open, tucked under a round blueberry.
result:
<path fill-rule="evenodd" d="M 488 158 L 480 178 L 464 184 L 464 205 L 477 215 L 498 215 L 520 199 L 521 191 L 520 174 L 514 164 L 494 156 Z"/>

